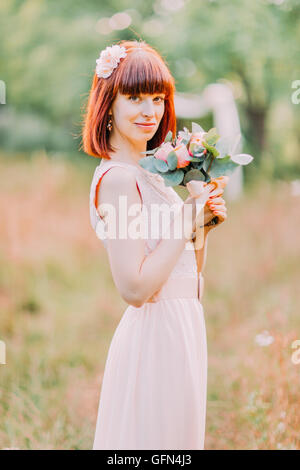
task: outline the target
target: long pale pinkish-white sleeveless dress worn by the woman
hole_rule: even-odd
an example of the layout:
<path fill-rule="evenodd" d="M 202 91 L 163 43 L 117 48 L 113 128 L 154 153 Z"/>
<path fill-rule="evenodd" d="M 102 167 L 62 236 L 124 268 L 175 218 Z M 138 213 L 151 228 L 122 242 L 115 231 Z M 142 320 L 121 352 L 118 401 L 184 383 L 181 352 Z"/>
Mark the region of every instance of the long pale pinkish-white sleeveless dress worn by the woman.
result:
<path fill-rule="evenodd" d="M 90 217 L 105 247 L 95 189 L 116 165 L 134 172 L 147 208 L 153 202 L 183 204 L 159 175 L 133 164 L 102 160 L 91 184 Z M 158 243 L 159 239 L 147 239 L 146 254 Z M 152 301 L 126 308 L 108 351 L 94 450 L 204 449 L 207 343 L 202 293 L 195 252 L 184 249 Z"/>

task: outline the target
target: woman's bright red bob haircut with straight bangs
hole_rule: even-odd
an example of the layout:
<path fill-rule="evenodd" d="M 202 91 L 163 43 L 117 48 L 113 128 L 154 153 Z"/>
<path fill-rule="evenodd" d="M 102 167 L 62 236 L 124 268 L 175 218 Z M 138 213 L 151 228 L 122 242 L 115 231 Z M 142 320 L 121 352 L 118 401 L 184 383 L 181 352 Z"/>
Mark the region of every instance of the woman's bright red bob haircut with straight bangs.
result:
<path fill-rule="evenodd" d="M 147 150 L 158 147 L 169 130 L 173 138 L 176 135 L 175 80 L 165 61 L 144 41 L 123 40 L 117 44 L 126 48 L 127 55 L 108 78 L 99 78 L 94 73 L 83 117 L 83 151 L 97 158 L 110 159 L 108 152 L 115 151 L 109 144 L 106 126 L 118 91 L 123 95 L 165 93 L 165 111 L 156 133 L 147 142 Z"/>

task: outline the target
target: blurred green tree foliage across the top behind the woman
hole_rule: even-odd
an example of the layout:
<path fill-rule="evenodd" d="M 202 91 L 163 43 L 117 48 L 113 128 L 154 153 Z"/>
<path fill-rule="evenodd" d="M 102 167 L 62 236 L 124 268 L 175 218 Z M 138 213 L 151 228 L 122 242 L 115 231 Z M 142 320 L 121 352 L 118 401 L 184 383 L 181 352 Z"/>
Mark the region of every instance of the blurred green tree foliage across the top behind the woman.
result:
<path fill-rule="evenodd" d="M 166 58 L 178 91 L 201 93 L 210 83 L 230 82 L 243 151 L 268 175 L 298 174 L 300 117 L 291 102 L 292 81 L 299 79 L 298 0 L 210 1 L 201 8 L 185 2 L 168 12 L 158 5 L 153 11 L 151 2 L 137 0 L 130 9 L 120 0 L 1 2 L 0 79 L 7 85 L 7 104 L 0 106 L 2 148 L 77 151 L 100 50 L 141 37 Z M 96 30 L 100 18 L 124 10 L 132 16 L 128 29 L 109 35 Z M 151 35 L 149 20 L 161 24 L 161 34 Z"/>

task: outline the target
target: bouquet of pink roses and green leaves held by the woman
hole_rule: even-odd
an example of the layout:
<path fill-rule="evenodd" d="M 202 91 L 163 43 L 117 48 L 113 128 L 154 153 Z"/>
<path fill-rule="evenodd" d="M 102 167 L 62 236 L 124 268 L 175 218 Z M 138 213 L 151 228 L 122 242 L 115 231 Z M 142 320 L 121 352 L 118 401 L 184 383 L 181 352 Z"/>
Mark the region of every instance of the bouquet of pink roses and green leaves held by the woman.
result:
<path fill-rule="evenodd" d="M 224 187 L 228 176 L 239 165 L 248 165 L 253 160 L 251 155 L 236 153 L 240 139 L 241 134 L 234 139 L 220 138 L 215 127 L 205 132 L 193 122 L 192 132 L 184 127 L 175 139 L 169 131 L 159 147 L 142 152 L 146 157 L 141 158 L 139 164 L 151 173 L 161 175 L 166 186 L 181 185 L 190 189 L 192 180 L 206 184 L 215 182 L 216 186 L 222 180 Z M 223 179 L 226 179 L 225 184 Z M 214 220 L 217 223 L 217 217 Z"/>

